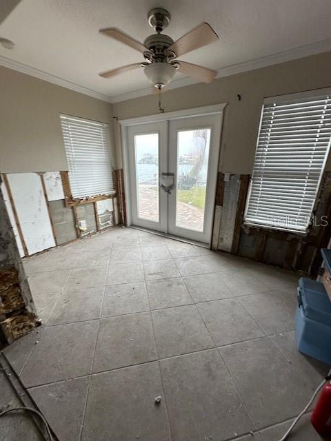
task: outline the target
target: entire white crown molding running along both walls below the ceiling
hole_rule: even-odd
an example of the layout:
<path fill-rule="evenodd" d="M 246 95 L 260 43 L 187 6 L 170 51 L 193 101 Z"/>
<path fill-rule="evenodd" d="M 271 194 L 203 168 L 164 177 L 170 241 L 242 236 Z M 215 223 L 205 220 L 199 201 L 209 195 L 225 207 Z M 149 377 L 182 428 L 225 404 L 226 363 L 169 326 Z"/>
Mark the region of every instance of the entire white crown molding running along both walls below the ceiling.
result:
<path fill-rule="evenodd" d="M 218 73 L 216 78 L 222 78 L 224 76 L 240 74 L 241 72 L 247 72 L 249 70 L 265 68 L 269 65 L 274 65 L 274 64 L 284 63 L 285 61 L 291 61 L 295 59 L 309 57 L 310 55 L 319 54 L 321 52 L 328 52 L 330 50 L 331 50 L 331 39 L 317 41 L 316 43 L 299 46 L 298 48 L 284 50 L 283 52 L 277 52 L 277 54 L 268 55 L 267 57 L 261 57 L 250 61 L 244 61 L 243 63 L 230 65 L 225 68 L 220 68 L 217 71 Z M 119 94 L 115 96 L 107 96 L 105 94 L 96 92 L 95 90 L 84 88 L 81 85 L 62 79 L 59 76 L 48 74 L 47 72 L 43 72 L 43 70 L 32 68 L 31 66 L 20 63 L 19 61 L 14 61 L 7 57 L 3 57 L 2 55 L 0 55 L 0 65 L 2 65 L 5 68 L 17 70 L 18 72 L 22 72 L 23 74 L 35 76 L 36 78 L 39 78 L 44 81 L 48 81 L 49 83 L 60 85 L 63 88 L 67 88 L 70 90 L 74 90 L 75 92 L 79 92 L 81 94 L 92 96 L 92 98 L 97 98 L 100 99 L 101 101 L 106 101 L 108 103 L 119 103 L 121 101 L 139 98 L 140 96 L 150 95 L 152 90 L 152 86 L 151 86 L 150 88 L 135 90 L 134 92 L 128 92 L 125 94 Z M 167 90 L 183 88 L 186 85 L 192 85 L 196 83 L 199 83 L 199 81 L 196 81 L 191 78 L 183 78 L 177 81 L 172 81 L 167 86 Z"/>

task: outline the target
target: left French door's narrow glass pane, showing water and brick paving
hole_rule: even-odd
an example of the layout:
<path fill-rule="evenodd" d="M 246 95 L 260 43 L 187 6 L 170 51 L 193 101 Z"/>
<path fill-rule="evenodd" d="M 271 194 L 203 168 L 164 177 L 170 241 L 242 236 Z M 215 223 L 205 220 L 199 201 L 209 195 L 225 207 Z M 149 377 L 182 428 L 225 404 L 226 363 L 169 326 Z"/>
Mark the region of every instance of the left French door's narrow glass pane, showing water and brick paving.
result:
<path fill-rule="evenodd" d="M 159 134 L 134 136 L 138 217 L 159 222 Z"/>

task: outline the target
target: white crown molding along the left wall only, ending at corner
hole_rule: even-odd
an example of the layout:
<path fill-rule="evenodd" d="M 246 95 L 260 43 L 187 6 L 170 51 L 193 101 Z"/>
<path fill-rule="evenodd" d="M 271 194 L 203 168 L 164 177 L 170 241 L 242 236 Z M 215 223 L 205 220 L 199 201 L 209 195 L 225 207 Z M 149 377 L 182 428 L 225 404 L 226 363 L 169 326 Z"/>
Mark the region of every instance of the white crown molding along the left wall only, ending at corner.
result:
<path fill-rule="evenodd" d="M 39 70 L 37 68 L 32 68 L 27 64 L 20 63 L 19 61 L 15 61 L 9 59 L 7 57 L 3 57 L 0 55 L 0 65 L 4 68 L 9 68 L 12 70 L 17 70 L 18 72 L 22 72 L 23 74 L 28 74 L 31 76 L 35 76 L 44 81 L 48 81 L 49 83 L 61 85 L 63 88 L 74 90 L 74 92 L 79 92 L 84 95 L 92 96 L 92 98 L 100 99 L 101 101 L 107 101 L 111 103 L 110 96 L 101 94 L 99 92 L 95 92 L 95 90 L 91 90 L 88 88 L 84 88 L 81 85 L 72 83 L 71 81 L 67 81 L 59 76 L 48 74 L 47 72 L 43 72 L 43 70 Z"/>

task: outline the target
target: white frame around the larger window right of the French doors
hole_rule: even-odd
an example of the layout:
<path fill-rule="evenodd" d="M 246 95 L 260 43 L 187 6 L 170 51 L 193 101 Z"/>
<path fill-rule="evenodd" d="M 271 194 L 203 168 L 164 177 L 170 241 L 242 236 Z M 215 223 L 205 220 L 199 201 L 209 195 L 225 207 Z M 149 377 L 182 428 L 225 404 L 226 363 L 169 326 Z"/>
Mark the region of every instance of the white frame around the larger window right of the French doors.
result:
<path fill-rule="evenodd" d="M 261 116 L 260 116 L 260 121 L 259 121 L 259 130 L 257 132 L 257 142 L 256 142 L 256 147 L 255 147 L 255 152 L 254 152 L 253 167 L 255 165 L 255 158 L 256 158 L 256 155 L 258 152 L 258 148 L 259 148 L 259 139 L 260 139 L 261 125 L 262 125 L 262 121 L 263 121 L 263 112 L 264 112 L 265 105 L 272 104 L 272 103 L 285 105 L 285 103 L 287 103 L 287 102 L 293 102 L 296 100 L 297 100 L 297 103 L 299 104 L 300 102 L 305 101 L 307 99 L 318 99 L 319 97 L 325 98 L 325 95 L 326 96 L 330 95 L 330 97 L 331 97 L 331 88 L 309 90 L 309 91 L 305 91 L 305 92 L 296 92 L 293 94 L 284 94 L 284 95 L 279 95 L 279 96 L 270 96 L 270 97 L 263 99 L 263 103 L 262 103 L 262 107 L 261 107 Z M 331 128 L 330 128 L 330 132 L 331 132 Z M 312 214 L 314 214 L 314 211 L 317 208 L 317 203 L 319 201 L 319 194 L 321 192 L 321 181 L 322 181 L 323 176 L 325 174 L 325 165 L 328 161 L 328 157 L 330 156 L 330 152 L 331 152 L 331 136 L 328 141 L 328 147 L 326 147 L 325 157 L 323 158 L 323 165 L 321 167 L 319 179 L 317 181 L 317 187 L 316 187 L 317 191 L 314 196 L 314 203 L 312 205 L 310 216 L 312 216 Z M 245 209 L 244 209 L 244 213 L 243 213 L 243 225 L 247 225 L 248 227 L 254 227 L 256 229 L 271 230 L 273 232 L 279 232 L 279 233 L 283 233 L 283 234 L 291 234 L 292 233 L 292 234 L 297 234 L 299 236 L 306 236 L 309 233 L 310 227 L 312 225 L 311 222 L 308 223 L 305 230 L 303 230 L 303 229 L 300 230 L 300 229 L 295 229 L 295 228 L 290 228 L 290 227 L 279 227 L 279 226 L 273 226 L 273 225 L 263 225 L 262 223 L 261 224 L 252 223 L 251 221 L 245 220 L 247 212 L 248 212 L 248 208 L 250 205 L 250 196 L 252 194 L 253 179 L 254 179 L 254 168 L 253 168 L 252 174 L 250 176 L 250 183 L 248 186 L 248 192 L 247 192 L 246 201 L 245 201 Z"/>

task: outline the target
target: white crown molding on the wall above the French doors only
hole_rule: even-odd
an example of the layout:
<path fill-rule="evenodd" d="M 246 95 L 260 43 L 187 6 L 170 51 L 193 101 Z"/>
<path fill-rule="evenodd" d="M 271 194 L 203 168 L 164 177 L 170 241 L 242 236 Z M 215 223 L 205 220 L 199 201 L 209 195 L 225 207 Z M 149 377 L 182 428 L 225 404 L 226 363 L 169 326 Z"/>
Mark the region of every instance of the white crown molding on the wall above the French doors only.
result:
<path fill-rule="evenodd" d="M 224 76 L 230 76 L 234 74 L 240 74 L 241 72 L 248 72 L 249 70 L 255 70 L 260 68 L 266 68 L 270 65 L 285 63 L 285 61 L 296 60 L 310 55 L 316 55 L 322 52 L 328 52 L 331 50 L 331 39 L 318 41 L 317 43 L 311 43 L 308 45 L 299 46 L 294 49 L 284 50 L 283 52 L 277 52 L 277 54 L 268 55 L 267 57 L 261 57 L 249 61 L 243 61 L 234 65 L 220 68 L 217 70 L 217 78 Z M 167 85 L 167 90 L 183 88 L 185 85 L 191 85 L 199 83 L 194 79 L 184 78 L 177 81 L 172 81 Z M 128 99 L 139 98 L 139 96 L 149 95 L 151 88 L 137 90 L 134 92 L 128 92 L 126 94 L 112 96 L 112 103 L 119 103 Z"/>

